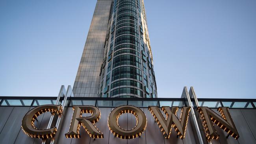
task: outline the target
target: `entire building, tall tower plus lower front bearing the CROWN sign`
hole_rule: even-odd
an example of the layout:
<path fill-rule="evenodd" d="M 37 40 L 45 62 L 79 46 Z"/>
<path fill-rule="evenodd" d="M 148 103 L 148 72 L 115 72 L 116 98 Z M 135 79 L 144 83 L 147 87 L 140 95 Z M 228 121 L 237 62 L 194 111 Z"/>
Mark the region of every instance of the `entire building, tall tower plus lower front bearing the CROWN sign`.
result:
<path fill-rule="evenodd" d="M 0 144 L 256 144 L 256 99 L 157 98 L 143 0 L 98 0 L 73 89 L 0 96 Z"/>

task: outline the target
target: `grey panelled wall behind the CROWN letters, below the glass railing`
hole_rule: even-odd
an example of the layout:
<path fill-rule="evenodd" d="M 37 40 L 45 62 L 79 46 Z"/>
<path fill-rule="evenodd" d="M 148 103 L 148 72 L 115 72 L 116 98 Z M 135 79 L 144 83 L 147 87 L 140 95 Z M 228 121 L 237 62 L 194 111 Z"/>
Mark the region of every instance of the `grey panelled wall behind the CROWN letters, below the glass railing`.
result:
<path fill-rule="evenodd" d="M 21 129 L 21 121 L 32 107 L 0 107 L 0 144 L 41 144 L 42 140 L 38 138 L 30 138 L 24 134 Z M 80 130 L 81 138 L 66 138 L 65 133 L 69 131 L 70 121 L 72 118 L 72 107 L 68 108 L 65 114 L 65 120 L 62 126 L 58 129 L 59 137 L 55 137 L 58 144 L 196 144 L 196 135 L 193 132 L 191 120 L 189 120 L 186 131 L 186 138 L 181 140 L 177 138 L 177 133 L 172 130 L 171 137 L 165 139 L 158 125 L 154 122 L 153 116 L 147 108 L 142 108 L 147 117 L 147 129 L 141 135 L 141 138 L 124 140 L 115 138 L 108 129 L 108 115 L 113 108 L 99 107 L 101 112 L 100 121 L 95 125 L 104 133 L 104 138 L 93 140 L 85 130 Z M 217 111 L 216 109 L 214 109 Z M 230 114 L 236 124 L 240 138 L 235 140 L 232 137 L 226 138 L 226 133 L 215 126 L 217 133 L 220 135 L 219 140 L 211 140 L 212 144 L 255 144 L 256 143 L 256 109 L 229 109 Z M 180 114 L 180 111 L 178 112 Z M 35 122 L 36 127 L 44 129 L 47 127 L 50 113 L 41 114 L 38 117 L 38 122 Z M 122 114 L 119 118 L 119 125 L 126 129 L 131 129 L 135 126 L 135 117 L 130 114 Z"/>

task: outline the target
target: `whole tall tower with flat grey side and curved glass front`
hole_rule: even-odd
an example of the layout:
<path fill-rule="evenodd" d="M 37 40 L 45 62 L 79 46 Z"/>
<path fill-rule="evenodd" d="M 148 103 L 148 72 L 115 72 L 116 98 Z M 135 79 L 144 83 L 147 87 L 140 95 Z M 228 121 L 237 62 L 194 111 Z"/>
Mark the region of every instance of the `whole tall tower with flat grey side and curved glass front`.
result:
<path fill-rule="evenodd" d="M 74 96 L 156 98 L 143 0 L 98 0 Z"/>

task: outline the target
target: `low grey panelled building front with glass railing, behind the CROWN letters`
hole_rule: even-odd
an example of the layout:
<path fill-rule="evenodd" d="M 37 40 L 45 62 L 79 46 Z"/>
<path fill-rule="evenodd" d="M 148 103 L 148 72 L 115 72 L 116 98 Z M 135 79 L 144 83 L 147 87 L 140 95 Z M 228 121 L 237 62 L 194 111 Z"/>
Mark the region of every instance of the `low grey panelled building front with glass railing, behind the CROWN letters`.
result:
<path fill-rule="evenodd" d="M 86 98 L 73 97 L 72 89 L 68 88 L 67 92 L 61 88 L 58 97 L 6 97 L 0 96 L 0 144 L 255 144 L 256 143 L 256 99 L 199 99 L 193 92 L 184 88 L 181 98 Z M 24 130 L 23 120 L 25 115 L 33 109 L 45 106 L 61 104 L 63 112 L 61 115 L 56 113 L 41 113 L 33 121 L 35 131 L 57 127 L 56 134 L 53 138 L 42 140 L 28 135 Z M 80 137 L 67 137 L 72 124 L 73 115 L 76 113 L 74 107 L 95 107 L 100 110 L 100 118 L 95 126 L 104 137 L 93 138 L 89 135 L 83 126 L 78 131 Z M 113 131 L 109 130 L 109 115 L 114 109 L 122 106 L 135 106 L 141 109 L 145 114 L 146 127 L 139 137 L 128 139 L 120 138 Z M 169 138 L 165 138 L 162 129 L 156 122 L 149 107 L 178 107 L 177 118 L 180 119 L 182 108 L 189 107 L 189 111 L 184 137 L 180 137 L 176 132 L 175 126 L 171 127 Z M 219 107 L 229 107 L 228 111 L 237 129 L 239 138 L 228 135 L 228 131 L 221 129 L 221 125 L 215 122 L 213 125 L 218 138 L 207 138 L 205 122 L 201 119 L 202 115 L 198 108 L 209 107 L 219 116 Z M 40 110 L 41 111 L 41 110 Z M 78 111 L 79 112 L 79 111 Z M 82 112 L 82 111 L 81 111 Z M 175 112 L 175 113 L 176 113 Z M 38 112 L 39 113 L 39 112 Z M 83 112 L 85 113 L 85 112 Z M 170 114 L 170 113 L 169 113 Z M 165 114 L 163 114 L 165 115 Z M 90 116 L 90 115 L 81 115 Z M 228 115 L 224 114 L 223 119 L 228 122 Z M 134 129 L 136 124 L 136 114 L 123 113 L 118 116 L 117 124 L 127 131 Z M 181 119 L 182 120 L 182 119 Z M 215 120 L 212 120 L 213 124 Z M 30 125 L 31 120 L 29 120 Z M 178 122 L 179 123 L 179 122 Z M 162 124 L 162 123 L 161 123 Z M 175 123 L 177 124 L 177 123 Z M 24 132 L 24 131 L 27 133 Z M 87 129 L 88 131 L 88 129 Z"/>

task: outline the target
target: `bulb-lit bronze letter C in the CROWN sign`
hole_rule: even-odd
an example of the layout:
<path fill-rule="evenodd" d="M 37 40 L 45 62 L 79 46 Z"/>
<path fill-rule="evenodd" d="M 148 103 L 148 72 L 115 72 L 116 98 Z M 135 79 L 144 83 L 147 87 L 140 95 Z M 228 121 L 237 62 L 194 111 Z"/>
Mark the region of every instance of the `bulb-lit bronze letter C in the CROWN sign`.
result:
<path fill-rule="evenodd" d="M 28 111 L 24 118 L 22 119 L 22 129 L 26 135 L 32 138 L 52 138 L 55 136 L 57 132 L 57 128 L 51 127 L 50 129 L 37 129 L 34 125 L 35 119 L 42 113 L 50 111 L 51 113 L 61 114 L 62 109 L 61 105 L 41 105 L 39 107 L 35 107 Z"/>

